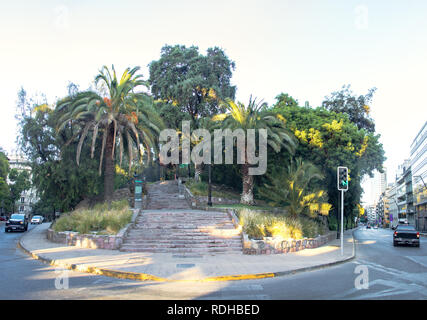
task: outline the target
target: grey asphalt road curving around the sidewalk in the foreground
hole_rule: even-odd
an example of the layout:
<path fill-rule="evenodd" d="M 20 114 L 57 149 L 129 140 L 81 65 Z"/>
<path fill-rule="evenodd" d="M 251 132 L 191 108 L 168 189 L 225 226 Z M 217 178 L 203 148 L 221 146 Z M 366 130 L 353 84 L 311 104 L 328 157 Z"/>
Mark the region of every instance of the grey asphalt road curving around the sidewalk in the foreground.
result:
<path fill-rule="evenodd" d="M 427 299 L 427 238 L 420 248 L 393 247 L 391 230 L 357 230 L 357 258 L 345 264 L 213 283 L 136 282 L 58 270 L 17 249 L 22 235 L 5 233 L 0 223 L 0 299 Z"/>

